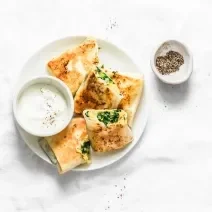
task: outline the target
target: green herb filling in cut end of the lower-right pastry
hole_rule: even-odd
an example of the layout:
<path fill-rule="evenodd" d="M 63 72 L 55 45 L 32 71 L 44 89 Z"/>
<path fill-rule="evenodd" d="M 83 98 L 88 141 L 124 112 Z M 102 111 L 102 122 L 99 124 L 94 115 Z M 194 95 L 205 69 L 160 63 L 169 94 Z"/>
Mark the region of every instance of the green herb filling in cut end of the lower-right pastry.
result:
<path fill-rule="evenodd" d="M 110 123 L 115 123 L 119 120 L 119 112 L 121 110 L 113 110 L 111 112 L 105 111 L 105 112 L 99 112 L 97 115 L 97 119 L 100 122 L 103 122 L 105 126 L 107 126 Z"/>

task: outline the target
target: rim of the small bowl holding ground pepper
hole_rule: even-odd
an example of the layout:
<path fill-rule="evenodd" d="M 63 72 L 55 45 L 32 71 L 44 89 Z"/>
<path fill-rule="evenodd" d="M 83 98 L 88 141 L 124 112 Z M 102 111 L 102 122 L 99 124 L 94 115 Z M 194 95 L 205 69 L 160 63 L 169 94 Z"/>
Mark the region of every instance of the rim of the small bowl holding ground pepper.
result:
<path fill-rule="evenodd" d="M 164 44 L 164 43 L 169 43 L 169 42 L 176 42 L 180 45 L 183 46 L 183 48 L 188 52 L 188 55 L 189 55 L 189 63 L 188 63 L 188 73 L 180 80 L 176 80 L 176 81 L 169 81 L 167 79 L 165 79 L 162 75 L 158 72 L 156 66 L 155 66 L 155 62 L 154 62 L 154 58 L 155 58 L 155 55 L 156 55 L 156 52 L 158 51 L 158 49 Z M 175 39 L 170 39 L 170 40 L 166 40 L 162 43 L 160 43 L 159 45 L 157 45 L 153 51 L 152 51 L 152 54 L 151 54 L 151 58 L 150 58 L 150 64 L 151 64 L 151 68 L 152 68 L 152 71 L 154 72 L 154 74 L 164 83 L 167 83 L 167 84 L 171 84 L 171 85 L 178 85 L 178 84 L 181 84 L 185 81 L 187 81 L 189 79 L 189 77 L 191 76 L 192 72 L 193 72 L 193 56 L 192 56 L 192 53 L 191 51 L 189 50 L 188 46 L 186 44 L 184 44 L 183 42 L 181 41 L 178 41 L 178 40 L 175 40 Z"/>

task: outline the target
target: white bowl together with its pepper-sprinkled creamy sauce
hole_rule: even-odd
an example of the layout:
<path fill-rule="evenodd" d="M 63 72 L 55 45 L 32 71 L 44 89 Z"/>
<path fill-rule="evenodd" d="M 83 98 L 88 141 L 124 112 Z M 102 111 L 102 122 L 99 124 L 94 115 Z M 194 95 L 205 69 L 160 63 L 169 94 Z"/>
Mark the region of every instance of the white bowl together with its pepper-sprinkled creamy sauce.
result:
<path fill-rule="evenodd" d="M 55 77 L 37 77 L 17 92 L 13 110 L 18 124 L 30 134 L 51 136 L 70 122 L 74 103 L 69 88 Z"/>

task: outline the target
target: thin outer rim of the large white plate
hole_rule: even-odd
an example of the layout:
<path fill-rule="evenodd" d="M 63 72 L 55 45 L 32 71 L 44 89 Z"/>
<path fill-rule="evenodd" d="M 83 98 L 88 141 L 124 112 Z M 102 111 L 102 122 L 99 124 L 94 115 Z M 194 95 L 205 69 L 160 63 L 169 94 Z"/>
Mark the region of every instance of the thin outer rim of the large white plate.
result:
<path fill-rule="evenodd" d="M 139 65 L 137 63 L 135 63 L 135 61 L 132 59 L 131 55 L 127 54 L 126 53 L 126 50 L 123 48 L 123 47 L 120 47 L 118 46 L 117 44 L 115 44 L 113 41 L 110 41 L 110 40 L 106 40 L 106 39 L 103 39 L 103 38 L 100 38 L 100 37 L 97 37 L 97 36 L 86 36 L 86 35 L 70 35 L 70 36 L 65 36 L 65 37 L 61 37 L 59 39 L 55 39 L 55 40 L 52 40 L 50 41 L 49 43 L 45 44 L 45 45 L 42 45 L 40 48 L 38 48 L 37 50 L 35 50 L 32 54 L 30 54 L 29 57 L 27 57 L 27 59 L 24 61 L 23 65 L 21 66 L 21 70 L 19 72 L 19 74 L 17 75 L 17 79 L 14 83 L 14 87 L 13 87 L 13 98 L 14 98 L 14 94 L 15 94 L 15 89 L 17 88 L 18 86 L 18 82 L 19 82 L 19 79 L 20 79 L 20 76 L 21 76 L 21 73 L 23 72 L 25 66 L 27 66 L 29 60 L 31 58 L 33 58 L 33 56 L 35 56 L 36 54 L 38 54 L 39 52 L 42 51 L 42 49 L 45 49 L 47 48 L 48 46 L 51 46 L 52 44 L 56 43 L 56 42 L 60 42 L 60 41 L 63 41 L 63 40 L 66 40 L 66 39 L 86 39 L 88 37 L 92 37 L 92 38 L 95 38 L 98 41 L 102 41 L 102 42 L 105 42 L 105 43 L 108 43 L 109 45 L 112 45 L 114 46 L 115 48 L 117 48 L 119 51 L 121 51 L 122 53 L 124 53 L 132 62 L 132 64 L 136 67 L 136 69 L 138 70 L 139 73 L 142 73 L 143 74 L 143 77 L 144 77 L 144 87 L 143 87 L 143 90 L 145 90 L 145 105 L 146 105 L 146 114 L 145 114 L 145 120 L 143 120 L 143 124 L 142 124 L 142 128 L 139 128 L 142 132 L 140 134 L 140 136 L 138 137 L 137 141 L 134 143 L 134 145 L 132 145 L 132 143 L 130 145 L 132 145 L 131 148 L 128 148 L 125 153 L 121 156 L 119 156 L 117 159 L 113 160 L 113 161 L 110 161 L 109 163 L 106 163 L 106 164 L 103 164 L 102 166 L 100 167 L 95 167 L 95 168 L 92 168 L 92 166 L 90 165 L 90 168 L 89 169 L 80 169 L 80 168 L 74 168 L 72 169 L 71 171 L 74 171 L 74 172 L 88 172 L 88 171 L 94 171 L 94 170 L 98 170 L 98 169 L 102 169 L 102 168 L 105 168 L 105 167 L 108 167 L 109 165 L 112 165 L 116 162 L 118 162 L 119 160 L 121 160 L 122 158 L 124 158 L 130 151 L 132 151 L 134 149 L 134 147 L 136 145 L 138 145 L 139 142 L 141 142 L 141 138 L 143 136 L 143 133 L 144 133 L 144 130 L 146 128 L 146 125 L 147 125 L 147 122 L 148 122 L 148 118 L 149 118 L 149 98 L 148 96 L 150 95 L 150 92 L 149 92 L 149 88 L 148 88 L 148 84 L 147 84 L 147 79 L 145 77 L 145 74 L 141 71 Z M 143 91 L 142 91 L 143 92 Z M 141 97 L 142 98 L 142 97 Z M 140 100 L 142 101 L 142 100 Z M 28 144 L 28 142 L 26 141 L 26 139 L 24 139 L 24 136 L 22 136 L 23 134 L 23 129 L 21 128 L 21 126 L 19 126 L 19 124 L 17 123 L 15 117 L 14 117 L 14 113 L 13 113 L 13 120 L 15 122 L 15 127 L 21 137 L 21 140 L 23 140 L 25 142 L 25 144 L 27 144 L 28 148 L 35 154 L 37 155 L 40 159 L 42 159 L 43 161 L 47 162 L 48 164 L 50 165 L 53 165 L 50 163 L 50 161 L 47 161 L 45 159 L 43 159 L 37 152 L 35 152 L 31 147 L 30 145 Z"/>

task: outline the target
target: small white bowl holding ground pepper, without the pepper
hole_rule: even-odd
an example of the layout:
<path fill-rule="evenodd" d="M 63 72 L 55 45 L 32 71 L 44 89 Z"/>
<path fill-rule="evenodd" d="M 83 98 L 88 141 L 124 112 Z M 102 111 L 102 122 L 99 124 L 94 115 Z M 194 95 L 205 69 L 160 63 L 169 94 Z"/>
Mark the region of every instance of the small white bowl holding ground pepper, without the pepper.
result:
<path fill-rule="evenodd" d="M 162 75 L 156 68 L 156 58 L 158 56 L 165 56 L 168 51 L 179 52 L 184 58 L 184 64 L 180 66 L 179 71 Z M 151 67 L 155 75 L 167 84 L 180 84 L 188 80 L 193 71 L 193 58 L 189 49 L 181 42 L 176 40 L 168 40 L 159 45 L 152 53 Z"/>

